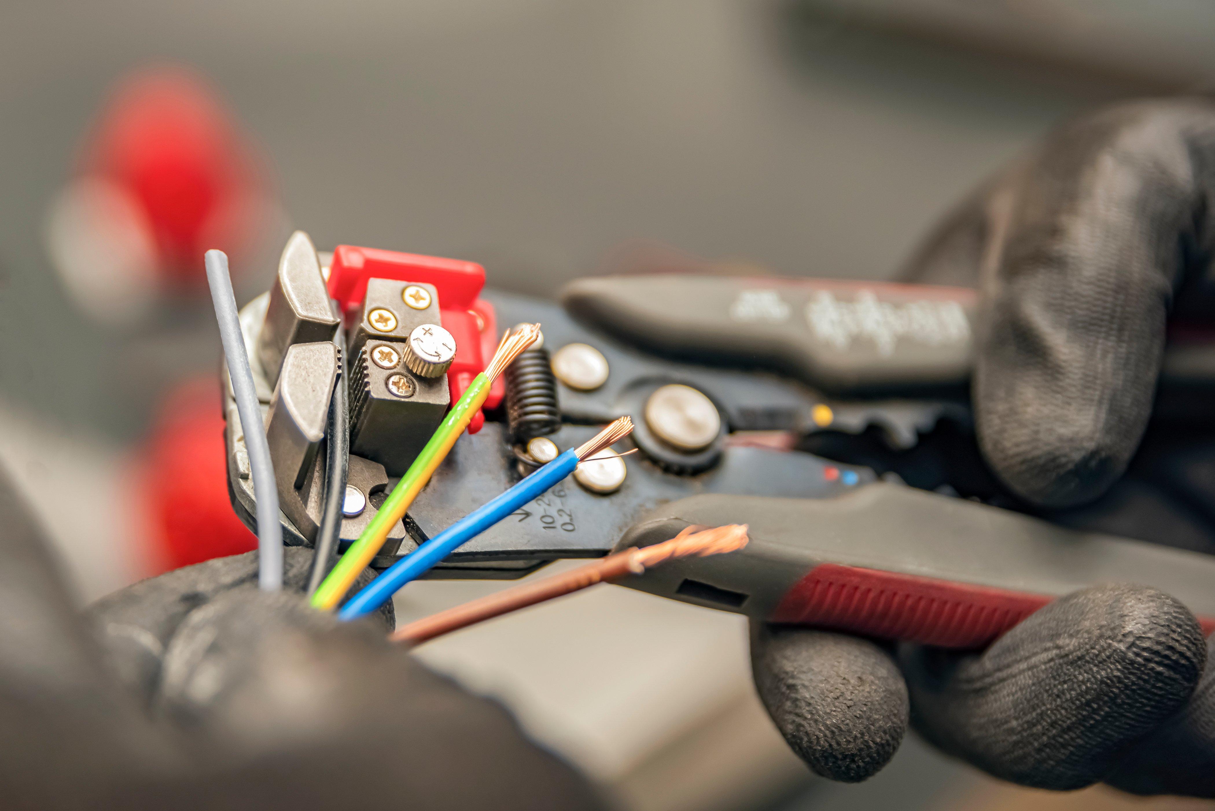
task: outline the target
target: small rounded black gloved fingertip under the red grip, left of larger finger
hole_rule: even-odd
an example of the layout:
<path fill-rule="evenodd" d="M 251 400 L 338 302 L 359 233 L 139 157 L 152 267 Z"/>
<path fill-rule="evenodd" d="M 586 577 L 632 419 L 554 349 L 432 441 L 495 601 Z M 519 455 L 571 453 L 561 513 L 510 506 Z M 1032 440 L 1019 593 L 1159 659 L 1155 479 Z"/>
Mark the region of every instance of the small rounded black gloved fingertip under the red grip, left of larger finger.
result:
<path fill-rule="evenodd" d="M 857 783 L 903 742 L 908 692 L 894 661 L 868 640 L 804 629 L 757 629 L 756 688 L 785 740 L 818 775 Z"/>

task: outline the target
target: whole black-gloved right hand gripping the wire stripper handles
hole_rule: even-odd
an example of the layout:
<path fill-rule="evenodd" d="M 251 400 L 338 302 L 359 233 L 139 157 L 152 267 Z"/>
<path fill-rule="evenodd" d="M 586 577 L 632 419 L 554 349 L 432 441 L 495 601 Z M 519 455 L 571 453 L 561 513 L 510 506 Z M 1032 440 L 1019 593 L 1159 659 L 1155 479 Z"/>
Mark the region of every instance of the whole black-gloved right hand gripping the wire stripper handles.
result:
<path fill-rule="evenodd" d="M 1023 508 L 1215 551 L 1215 437 L 1145 440 L 1165 322 L 1213 311 L 1213 255 L 1215 106 L 1176 100 L 1064 125 L 912 259 L 908 281 L 981 291 L 978 441 Z M 1025 785 L 1215 796 L 1215 668 L 1192 614 L 1149 588 L 1070 595 L 983 653 L 780 627 L 755 629 L 752 652 L 776 725 L 827 777 L 876 772 L 910 717 Z"/>

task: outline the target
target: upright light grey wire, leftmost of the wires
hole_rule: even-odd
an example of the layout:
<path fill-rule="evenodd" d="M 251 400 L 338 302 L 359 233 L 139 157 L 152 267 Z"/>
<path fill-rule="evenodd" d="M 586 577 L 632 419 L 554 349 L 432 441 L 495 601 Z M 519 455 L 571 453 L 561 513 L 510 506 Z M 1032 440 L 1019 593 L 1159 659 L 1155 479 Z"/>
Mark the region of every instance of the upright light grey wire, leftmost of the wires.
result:
<path fill-rule="evenodd" d="M 258 500 L 258 585 L 262 591 L 281 591 L 283 587 L 283 528 L 278 523 L 278 488 L 275 484 L 275 463 L 270 458 L 266 427 L 261 421 L 258 390 L 249 368 L 249 355 L 241 332 L 241 317 L 228 276 L 227 254 L 222 250 L 207 252 L 207 283 L 215 303 L 215 320 L 220 325 L 224 356 L 227 359 L 236 410 L 244 429 L 244 445 L 249 451 L 249 468 L 253 472 L 253 495 Z"/>

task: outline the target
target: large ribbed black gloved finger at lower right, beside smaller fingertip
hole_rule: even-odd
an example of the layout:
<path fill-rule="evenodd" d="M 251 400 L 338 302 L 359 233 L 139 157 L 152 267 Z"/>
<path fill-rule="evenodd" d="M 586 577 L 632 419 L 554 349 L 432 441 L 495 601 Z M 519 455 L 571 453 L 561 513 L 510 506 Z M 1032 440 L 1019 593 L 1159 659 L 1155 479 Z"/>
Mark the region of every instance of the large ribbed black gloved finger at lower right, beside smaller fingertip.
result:
<path fill-rule="evenodd" d="M 1182 713 L 1206 643 L 1174 598 L 1111 585 L 1051 603 L 982 654 L 905 646 L 900 660 L 928 740 L 996 777 L 1075 789 L 1131 779 L 1128 753 Z M 1198 793 L 1213 790 L 1208 771 Z"/>

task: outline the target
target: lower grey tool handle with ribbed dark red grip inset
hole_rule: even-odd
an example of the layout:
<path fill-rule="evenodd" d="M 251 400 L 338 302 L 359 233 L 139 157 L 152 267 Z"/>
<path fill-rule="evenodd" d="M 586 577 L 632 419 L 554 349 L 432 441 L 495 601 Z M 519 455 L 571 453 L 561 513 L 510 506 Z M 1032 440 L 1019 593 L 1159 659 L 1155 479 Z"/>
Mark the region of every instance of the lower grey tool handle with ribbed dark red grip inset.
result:
<path fill-rule="evenodd" d="M 750 524 L 742 551 L 673 561 L 625 585 L 773 623 L 979 648 L 1056 597 L 1134 582 L 1215 630 L 1215 557 L 886 483 L 824 500 L 694 496 L 663 506 L 620 547 L 728 523 Z"/>

